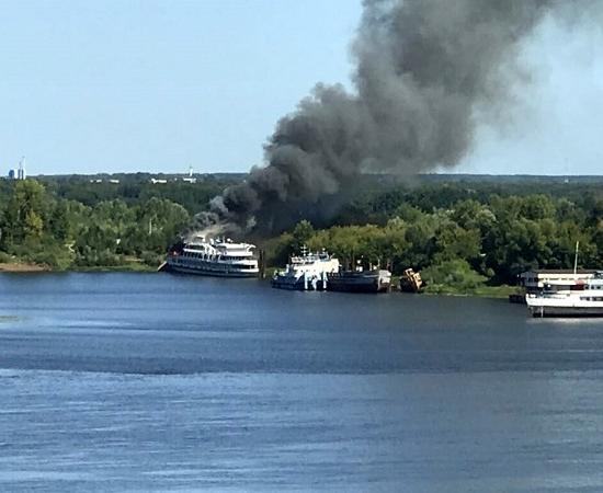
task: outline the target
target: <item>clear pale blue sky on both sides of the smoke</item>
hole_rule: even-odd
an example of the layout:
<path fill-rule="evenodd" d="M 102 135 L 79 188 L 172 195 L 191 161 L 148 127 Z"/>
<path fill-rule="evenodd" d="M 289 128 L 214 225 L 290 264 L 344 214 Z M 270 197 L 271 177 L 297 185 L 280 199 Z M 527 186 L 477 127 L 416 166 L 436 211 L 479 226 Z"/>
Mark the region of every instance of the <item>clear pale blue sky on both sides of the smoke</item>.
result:
<path fill-rule="evenodd" d="M 360 0 L 0 0 L 0 173 L 242 172 L 317 82 L 352 88 Z M 603 174 L 601 26 L 547 20 L 526 82 L 444 172 Z"/>

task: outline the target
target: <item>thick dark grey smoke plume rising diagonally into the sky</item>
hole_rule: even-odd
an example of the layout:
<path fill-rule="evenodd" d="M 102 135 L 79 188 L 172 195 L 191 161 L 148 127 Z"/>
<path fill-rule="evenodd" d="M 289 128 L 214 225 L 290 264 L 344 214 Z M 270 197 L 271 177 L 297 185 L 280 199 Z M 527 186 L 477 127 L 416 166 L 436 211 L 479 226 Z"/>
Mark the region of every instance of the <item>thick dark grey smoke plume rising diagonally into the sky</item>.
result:
<path fill-rule="evenodd" d="M 318 84 L 284 116 L 263 168 L 214 198 L 198 226 L 282 230 L 319 217 L 363 172 L 454 167 L 479 107 L 503 107 L 524 39 L 555 0 L 365 0 L 354 93 Z M 566 4 L 567 7 L 567 4 Z"/>

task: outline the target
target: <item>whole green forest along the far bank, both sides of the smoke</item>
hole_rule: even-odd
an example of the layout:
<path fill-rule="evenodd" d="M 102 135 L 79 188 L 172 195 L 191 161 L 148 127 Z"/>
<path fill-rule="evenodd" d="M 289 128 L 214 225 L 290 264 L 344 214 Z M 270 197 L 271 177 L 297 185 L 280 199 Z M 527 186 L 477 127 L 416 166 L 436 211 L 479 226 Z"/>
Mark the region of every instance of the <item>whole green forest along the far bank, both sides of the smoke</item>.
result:
<path fill-rule="evenodd" d="M 120 183 L 86 176 L 0 183 L 0 262 L 54 270 L 156 268 L 208 200 L 243 175 L 197 183 Z M 412 182 L 366 176 L 355 198 L 320 225 L 302 220 L 254 240 L 269 265 L 303 244 L 344 264 L 395 274 L 421 271 L 433 291 L 512 285 L 528 268 L 603 266 L 603 179 L 426 175 Z"/>

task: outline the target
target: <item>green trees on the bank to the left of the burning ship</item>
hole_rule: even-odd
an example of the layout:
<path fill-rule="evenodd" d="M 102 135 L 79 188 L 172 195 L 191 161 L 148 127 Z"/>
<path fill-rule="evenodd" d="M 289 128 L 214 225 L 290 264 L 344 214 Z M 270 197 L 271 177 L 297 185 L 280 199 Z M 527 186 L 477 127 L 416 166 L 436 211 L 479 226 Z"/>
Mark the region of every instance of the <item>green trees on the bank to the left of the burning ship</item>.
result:
<path fill-rule="evenodd" d="M 88 177 L 0 181 L 0 262 L 58 270 L 157 266 L 193 215 L 232 179 L 151 184 Z"/>

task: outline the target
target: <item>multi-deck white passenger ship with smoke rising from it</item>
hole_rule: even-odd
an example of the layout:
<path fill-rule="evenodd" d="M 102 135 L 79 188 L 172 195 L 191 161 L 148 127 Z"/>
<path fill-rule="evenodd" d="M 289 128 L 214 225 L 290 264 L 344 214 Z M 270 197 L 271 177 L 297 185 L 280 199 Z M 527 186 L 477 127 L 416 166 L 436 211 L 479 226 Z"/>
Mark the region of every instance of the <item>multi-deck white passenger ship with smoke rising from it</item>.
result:
<path fill-rule="evenodd" d="M 221 277 L 258 277 L 258 261 L 253 257 L 255 246 L 235 243 L 230 239 L 195 237 L 181 243 L 168 253 L 170 271 L 186 274 Z"/>

